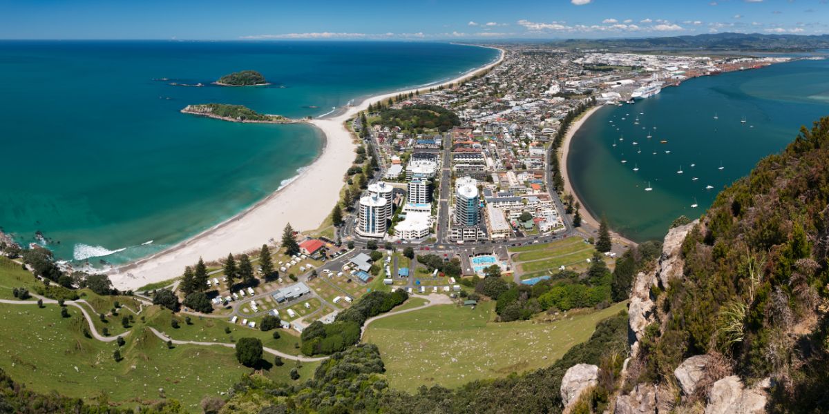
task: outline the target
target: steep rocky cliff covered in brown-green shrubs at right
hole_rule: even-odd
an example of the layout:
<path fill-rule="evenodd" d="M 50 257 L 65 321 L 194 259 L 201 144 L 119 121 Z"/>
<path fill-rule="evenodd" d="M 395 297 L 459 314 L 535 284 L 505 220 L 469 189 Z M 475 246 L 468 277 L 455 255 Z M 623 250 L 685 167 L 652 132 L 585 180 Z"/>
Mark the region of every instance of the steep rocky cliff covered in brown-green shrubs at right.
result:
<path fill-rule="evenodd" d="M 635 277 L 611 411 L 829 411 L 827 259 L 823 118 L 671 229 L 655 270 Z"/>

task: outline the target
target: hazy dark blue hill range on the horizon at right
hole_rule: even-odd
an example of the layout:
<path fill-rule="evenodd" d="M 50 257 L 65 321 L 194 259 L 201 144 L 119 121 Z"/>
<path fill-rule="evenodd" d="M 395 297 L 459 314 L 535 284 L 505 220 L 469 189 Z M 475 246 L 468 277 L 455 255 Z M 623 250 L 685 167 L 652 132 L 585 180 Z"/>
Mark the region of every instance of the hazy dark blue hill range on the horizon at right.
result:
<path fill-rule="evenodd" d="M 829 49 L 829 35 L 715 33 L 641 39 L 568 39 L 559 43 L 568 49 L 623 51 L 814 51 Z"/>

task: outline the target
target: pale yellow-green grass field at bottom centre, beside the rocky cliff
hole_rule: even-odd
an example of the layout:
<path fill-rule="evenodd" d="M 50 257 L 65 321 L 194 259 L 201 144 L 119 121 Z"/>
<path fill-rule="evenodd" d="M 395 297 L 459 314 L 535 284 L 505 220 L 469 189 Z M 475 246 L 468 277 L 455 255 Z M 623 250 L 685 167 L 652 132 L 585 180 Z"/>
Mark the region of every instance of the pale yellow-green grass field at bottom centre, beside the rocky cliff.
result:
<path fill-rule="evenodd" d="M 371 323 L 365 342 L 380 347 L 392 388 L 414 392 L 419 386 L 454 388 L 475 379 L 549 366 L 574 344 L 592 335 L 595 325 L 625 308 L 565 316 L 555 322 L 492 322 L 494 302 L 476 309 L 431 306 Z"/>

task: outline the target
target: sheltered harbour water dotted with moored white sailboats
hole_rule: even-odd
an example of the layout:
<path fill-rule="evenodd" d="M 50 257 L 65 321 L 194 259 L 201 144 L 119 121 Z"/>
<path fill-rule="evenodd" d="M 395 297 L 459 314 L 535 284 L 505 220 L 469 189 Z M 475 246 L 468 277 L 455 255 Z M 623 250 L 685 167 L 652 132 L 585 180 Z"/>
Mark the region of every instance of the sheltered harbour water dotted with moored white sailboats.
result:
<path fill-rule="evenodd" d="M 599 109 L 574 136 L 568 173 L 584 205 L 613 229 L 637 241 L 661 239 L 676 217 L 699 217 L 725 185 L 827 115 L 829 60 L 690 79 L 633 105 Z"/>

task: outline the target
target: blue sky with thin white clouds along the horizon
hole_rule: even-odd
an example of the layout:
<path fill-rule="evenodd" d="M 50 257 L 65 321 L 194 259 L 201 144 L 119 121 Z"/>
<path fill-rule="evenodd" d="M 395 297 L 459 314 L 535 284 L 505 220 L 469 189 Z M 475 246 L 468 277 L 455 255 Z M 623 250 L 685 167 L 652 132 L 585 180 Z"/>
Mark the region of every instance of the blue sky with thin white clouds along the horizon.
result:
<path fill-rule="evenodd" d="M 829 0 L 0 0 L 2 39 L 506 39 L 829 33 Z"/>

